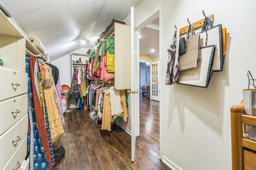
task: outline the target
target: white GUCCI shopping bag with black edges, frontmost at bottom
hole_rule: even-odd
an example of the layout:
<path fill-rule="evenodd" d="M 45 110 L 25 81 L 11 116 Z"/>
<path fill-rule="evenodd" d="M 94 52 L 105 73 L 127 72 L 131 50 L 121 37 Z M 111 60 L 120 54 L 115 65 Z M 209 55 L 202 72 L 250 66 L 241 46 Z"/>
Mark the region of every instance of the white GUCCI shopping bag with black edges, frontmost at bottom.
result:
<path fill-rule="evenodd" d="M 199 57 L 201 62 L 197 68 L 179 72 L 178 83 L 188 86 L 207 88 L 214 70 L 212 70 L 216 45 L 201 47 Z"/>

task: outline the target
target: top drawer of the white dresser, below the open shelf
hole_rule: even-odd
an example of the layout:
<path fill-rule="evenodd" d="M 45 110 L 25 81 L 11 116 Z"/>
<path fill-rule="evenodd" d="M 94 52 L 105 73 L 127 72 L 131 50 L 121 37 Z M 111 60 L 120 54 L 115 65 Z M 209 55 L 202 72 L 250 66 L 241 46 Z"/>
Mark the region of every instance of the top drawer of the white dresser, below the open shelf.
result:
<path fill-rule="evenodd" d="M 0 101 L 28 92 L 28 74 L 0 68 Z"/>

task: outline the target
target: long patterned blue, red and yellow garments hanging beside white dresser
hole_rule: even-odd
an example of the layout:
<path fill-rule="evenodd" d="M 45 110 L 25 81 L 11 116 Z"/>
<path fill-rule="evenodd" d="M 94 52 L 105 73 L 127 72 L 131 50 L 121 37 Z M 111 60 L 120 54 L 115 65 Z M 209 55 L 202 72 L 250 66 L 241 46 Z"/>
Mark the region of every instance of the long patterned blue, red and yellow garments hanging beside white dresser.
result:
<path fill-rule="evenodd" d="M 65 135 L 62 127 L 64 119 L 61 121 L 62 107 L 50 66 L 39 63 L 36 56 L 27 54 L 30 169 L 52 170 L 56 160 L 65 155 L 64 149 L 57 149 L 55 153 L 52 147 L 54 141 Z M 55 154 L 58 154 L 57 159 Z"/>

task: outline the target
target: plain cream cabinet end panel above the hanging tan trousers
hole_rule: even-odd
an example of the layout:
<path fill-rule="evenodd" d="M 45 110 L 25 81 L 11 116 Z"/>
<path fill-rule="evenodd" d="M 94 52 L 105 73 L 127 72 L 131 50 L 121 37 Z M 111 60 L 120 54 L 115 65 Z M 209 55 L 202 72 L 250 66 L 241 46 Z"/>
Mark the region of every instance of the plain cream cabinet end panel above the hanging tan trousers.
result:
<path fill-rule="evenodd" d="M 131 27 L 115 23 L 115 88 L 131 89 Z"/>

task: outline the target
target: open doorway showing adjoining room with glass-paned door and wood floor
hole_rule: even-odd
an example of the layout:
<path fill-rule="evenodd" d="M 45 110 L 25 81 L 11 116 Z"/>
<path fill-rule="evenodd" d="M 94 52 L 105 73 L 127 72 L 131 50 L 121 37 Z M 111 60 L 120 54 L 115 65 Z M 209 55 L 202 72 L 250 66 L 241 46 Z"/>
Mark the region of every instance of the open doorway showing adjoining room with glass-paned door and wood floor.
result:
<path fill-rule="evenodd" d="M 160 152 L 160 123 L 154 122 L 155 124 L 158 124 L 159 126 L 156 127 L 153 125 L 150 120 L 158 120 L 160 117 L 160 98 L 158 101 L 155 98 L 148 98 L 147 96 L 150 95 L 150 97 L 153 96 L 160 96 L 159 94 L 159 83 L 158 83 L 158 74 L 159 74 L 159 60 L 160 60 L 160 30 L 159 30 L 159 11 L 156 16 L 153 18 L 148 18 L 145 23 L 143 24 L 144 27 L 136 28 L 139 30 L 139 54 L 140 54 L 140 63 L 148 63 L 150 66 L 149 71 L 149 83 L 150 83 L 150 90 L 146 92 L 146 96 L 141 93 L 140 95 L 140 133 L 144 135 L 143 131 L 147 131 L 148 129 L 152 129 L 152 133 L 148 133 L 149 137 L 151 139 L 156 139 L 156 143 L 154 145 L 158 145 L 158 148 L 156 149 L 157 154 L 159 155 L 159 158 L 161 158 L 161 152 Z M 153 63 L 153 65 L 152 65 Z M 140 64 L 141 65 L 141 64 Z M 154 70 L 153 70 L 154 69 Z M 141 66 L 140 66 L 140 73 L 137 75 L 140 76 L 142 72 Z M 154 78 L 153 78 L 154 77 Z M 140 83 L 142 81 L 140 80 Z M 154 85 L 153 85 L 154 84 Z M 142 87 L 142 86 L 140 86 Z M 140 89 L 142 90 L 142 89 Z M 148 94 L 150 93 L 150 94 Z M 147 111 L 147 113 L 144 113 L 144 110 L 146 107 L 150 107 Z M 147 120 L 147 121 L 145 121 Z M 153 122 L 153 121 L 152 121 Z M 153 129 L 158 129 L 158 131 L 154 131 Z M 154 132 L 154 133 L 153 133 Z M 151 144 L 152 145 L 152 144 Z M 150 151 L 148 151 L 150 152 Z"/>

